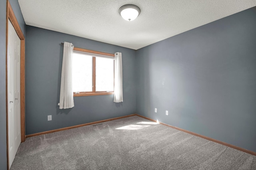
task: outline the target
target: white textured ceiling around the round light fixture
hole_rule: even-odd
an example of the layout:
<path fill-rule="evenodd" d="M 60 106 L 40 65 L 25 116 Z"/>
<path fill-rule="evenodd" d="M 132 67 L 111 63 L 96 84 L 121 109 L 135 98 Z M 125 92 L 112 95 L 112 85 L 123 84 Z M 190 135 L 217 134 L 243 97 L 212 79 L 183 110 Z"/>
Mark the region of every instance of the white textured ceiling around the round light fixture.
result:
<path fill-rule="evenodd" d="M 18 0 L 27 25 L 140 49 L 256 6 L 256 0 Z M 141 10 L 124 20 L 121 6 Z M 75 42 L 72 42 L 76 44 Z"/>

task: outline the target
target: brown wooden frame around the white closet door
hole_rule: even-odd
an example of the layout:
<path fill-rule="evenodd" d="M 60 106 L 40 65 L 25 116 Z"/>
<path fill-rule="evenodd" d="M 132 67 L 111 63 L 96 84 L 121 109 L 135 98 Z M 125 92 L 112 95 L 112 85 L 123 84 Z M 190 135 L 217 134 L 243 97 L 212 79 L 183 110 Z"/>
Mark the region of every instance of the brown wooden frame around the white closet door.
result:
<path fill-rule="evenodd" d="M 20 38 L 20 134 L 21 142 L 25 136 L 25 37 L 12 10 L 9 0 L 6 0 L 6 144 L 7 144 L 7 169 L 9 170 L 9 141 L 8 141 L 8 20 L 12 23 Z"/>

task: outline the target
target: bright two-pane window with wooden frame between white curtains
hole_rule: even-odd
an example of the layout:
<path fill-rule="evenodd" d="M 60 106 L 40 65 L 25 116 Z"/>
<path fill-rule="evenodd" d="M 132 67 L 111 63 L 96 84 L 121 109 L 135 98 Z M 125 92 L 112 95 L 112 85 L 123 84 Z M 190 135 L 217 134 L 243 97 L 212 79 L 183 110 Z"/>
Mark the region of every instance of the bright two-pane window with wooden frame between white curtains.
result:
<path fill-rule="evenodd" d="M 114 54 L 74 47 L 74 96 L 114 94 Z"/>

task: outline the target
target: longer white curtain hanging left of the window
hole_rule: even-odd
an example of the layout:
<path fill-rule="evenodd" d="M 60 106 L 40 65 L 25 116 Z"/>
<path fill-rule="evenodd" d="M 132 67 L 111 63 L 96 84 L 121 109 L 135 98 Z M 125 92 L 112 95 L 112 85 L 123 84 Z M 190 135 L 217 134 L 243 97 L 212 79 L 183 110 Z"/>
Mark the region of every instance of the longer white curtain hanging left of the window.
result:
<path fill-rule="evenodd" d="M 72 43 L 64 42 L 61 83 L 60 83 L 60 109 L 69 109 L 74 107 L 74 97 L 72 90 L 72 61 L 73 61 Z"/>

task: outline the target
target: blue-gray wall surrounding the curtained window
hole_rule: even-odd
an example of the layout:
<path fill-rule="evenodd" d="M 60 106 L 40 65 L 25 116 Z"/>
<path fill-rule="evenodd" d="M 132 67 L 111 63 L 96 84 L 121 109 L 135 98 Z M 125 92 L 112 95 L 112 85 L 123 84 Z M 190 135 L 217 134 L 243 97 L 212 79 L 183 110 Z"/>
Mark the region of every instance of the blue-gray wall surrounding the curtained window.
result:
<path fill-rule="evenodd" d="M 63 45 L 71 42 L 110 53 L 122 52 L 124 102 L 113 95 L 74 97 L 72 109 L 59 109 Z M 136 111 L 135 50 L 60 32 L 26 26 L 26 134 L 80 125 Z M 52 121 L 47 121 L 52 115 Z"/>

